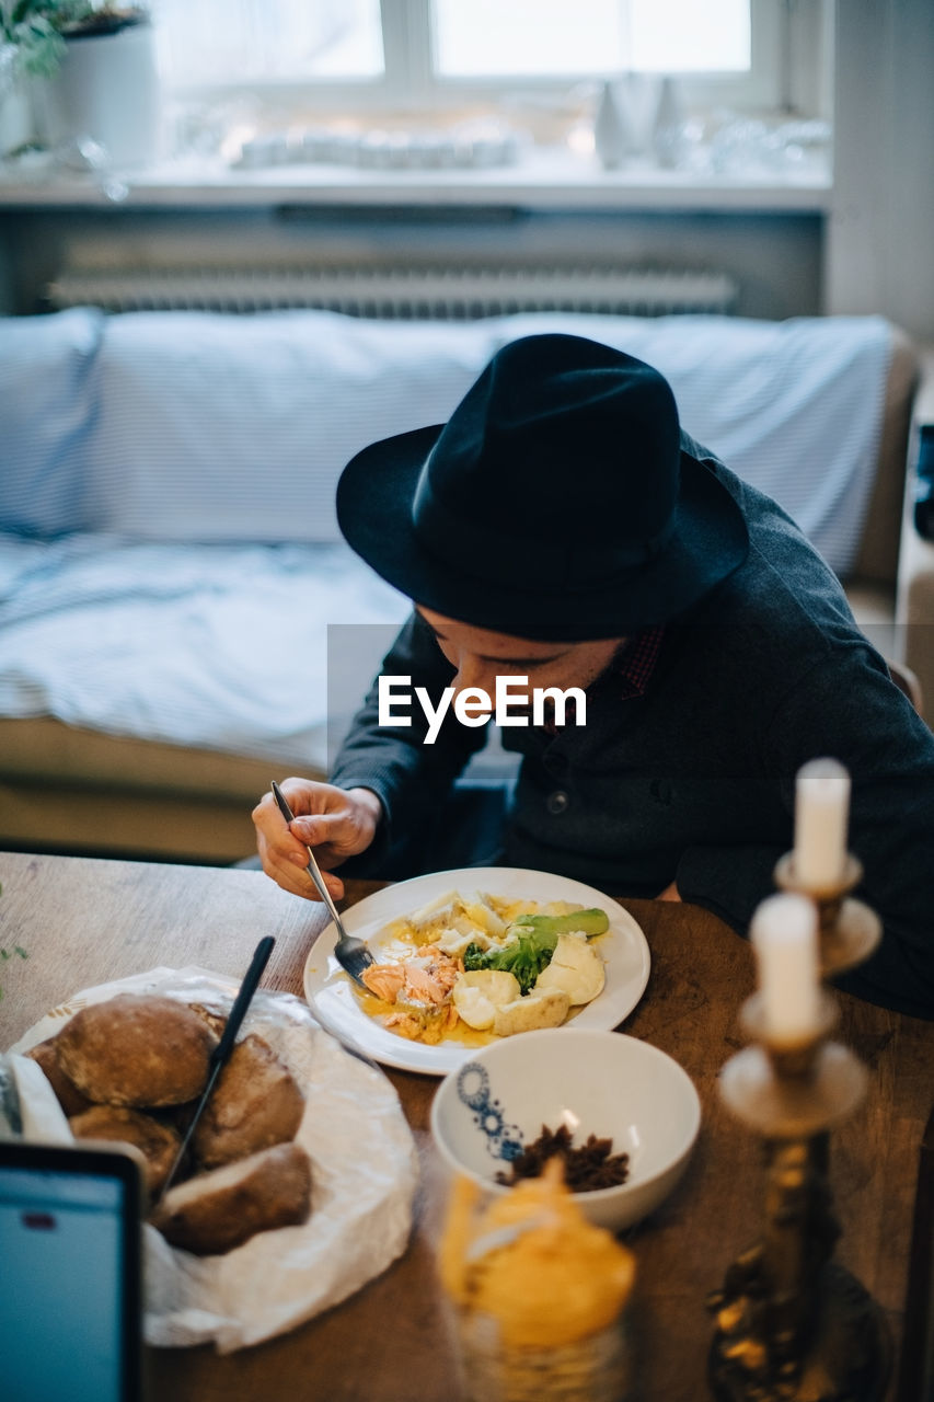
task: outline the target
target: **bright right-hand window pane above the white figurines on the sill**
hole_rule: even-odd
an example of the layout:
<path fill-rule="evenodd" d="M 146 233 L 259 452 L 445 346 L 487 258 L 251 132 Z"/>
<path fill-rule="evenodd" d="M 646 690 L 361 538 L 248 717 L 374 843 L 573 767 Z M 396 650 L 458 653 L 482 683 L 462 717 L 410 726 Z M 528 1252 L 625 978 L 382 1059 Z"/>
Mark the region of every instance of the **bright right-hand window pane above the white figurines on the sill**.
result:
<path fill-rule="evenodd" d="M 433 0 L 443 77 L 746 72 L 749 0 Z"/>

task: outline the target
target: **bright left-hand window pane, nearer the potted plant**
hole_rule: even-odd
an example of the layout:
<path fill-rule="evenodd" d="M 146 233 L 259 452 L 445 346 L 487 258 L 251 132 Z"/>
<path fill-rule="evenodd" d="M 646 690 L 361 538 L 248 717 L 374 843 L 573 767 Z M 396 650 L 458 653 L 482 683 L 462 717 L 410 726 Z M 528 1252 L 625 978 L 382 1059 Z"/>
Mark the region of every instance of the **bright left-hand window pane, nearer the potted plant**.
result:
<path fill-rule="evenodd" d="M 171 83 L 370 79 L 379 0 L 153 0 Z"/>

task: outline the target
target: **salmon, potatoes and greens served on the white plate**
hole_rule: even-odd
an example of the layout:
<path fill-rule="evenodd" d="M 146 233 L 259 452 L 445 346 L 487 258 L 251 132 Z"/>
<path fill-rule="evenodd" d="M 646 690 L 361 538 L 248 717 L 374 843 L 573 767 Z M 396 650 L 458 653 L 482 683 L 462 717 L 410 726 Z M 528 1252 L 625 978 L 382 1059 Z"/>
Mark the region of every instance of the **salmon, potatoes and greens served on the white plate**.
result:
<path fill-rule="evenodd" d="M 604 911 L 564 900 L 445 892 L 370 942 L 384 958 L 362 976 L 372 994 L 363 1007 L 388 1032 L 429 1044 L 466 1029 L 491 1037 L 560 1026 L 603 990 L 589 941 L 609 924 Z"/>

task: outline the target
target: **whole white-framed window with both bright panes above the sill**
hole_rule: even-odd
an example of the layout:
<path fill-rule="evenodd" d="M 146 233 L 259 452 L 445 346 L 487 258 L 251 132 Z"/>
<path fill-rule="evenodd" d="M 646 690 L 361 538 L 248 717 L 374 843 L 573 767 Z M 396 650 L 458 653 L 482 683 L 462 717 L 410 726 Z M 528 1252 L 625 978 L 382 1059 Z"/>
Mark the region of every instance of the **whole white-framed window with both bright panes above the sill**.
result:
<path fill-rule="evenodd" d="M 677 73 L 689 102 L 780 107 L 787 22 L 822 0 L 151 0 L 177 91 L 425 108 Z"/>

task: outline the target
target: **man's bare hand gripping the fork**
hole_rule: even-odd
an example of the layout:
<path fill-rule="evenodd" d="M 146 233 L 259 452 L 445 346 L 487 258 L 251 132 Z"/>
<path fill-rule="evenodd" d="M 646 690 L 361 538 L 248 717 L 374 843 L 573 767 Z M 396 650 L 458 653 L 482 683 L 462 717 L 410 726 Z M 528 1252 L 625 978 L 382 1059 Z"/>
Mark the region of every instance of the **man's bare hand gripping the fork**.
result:
<path fill-rule="evenodd" d="M 311 847 L 331 897 L 341 900 L 344 882 L 331 875 L 331 868 L 366 851 L 383 817 L 383 805 L 365 788 L 339 789 L 313 780 L 286 780 L 279 787 L 295 813 L 292 824 L 285 822 L 272 794 L 265 794 L 252 810 L 264 872 L 283 890 L 320 900 L 306 871 Z"/>

